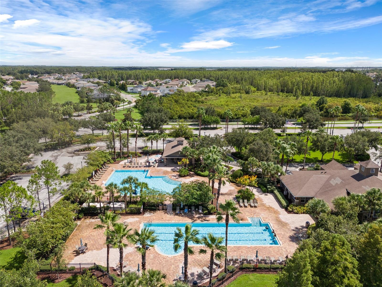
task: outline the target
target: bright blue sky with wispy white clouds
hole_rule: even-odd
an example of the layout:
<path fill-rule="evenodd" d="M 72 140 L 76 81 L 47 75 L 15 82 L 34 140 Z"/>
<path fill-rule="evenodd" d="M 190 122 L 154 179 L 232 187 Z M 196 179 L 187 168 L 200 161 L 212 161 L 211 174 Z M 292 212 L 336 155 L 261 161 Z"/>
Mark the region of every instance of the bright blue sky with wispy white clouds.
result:
<path fill-rule="evenodd" d="M 382 66 L 382 2 L 2 0 L 0 64 Z"/>

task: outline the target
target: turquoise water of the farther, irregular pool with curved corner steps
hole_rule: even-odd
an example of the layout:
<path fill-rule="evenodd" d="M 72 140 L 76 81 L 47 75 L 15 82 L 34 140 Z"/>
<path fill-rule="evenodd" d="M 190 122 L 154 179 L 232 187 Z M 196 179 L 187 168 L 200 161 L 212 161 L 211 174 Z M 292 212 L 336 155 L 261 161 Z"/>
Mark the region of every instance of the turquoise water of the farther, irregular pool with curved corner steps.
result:
<path fill-rule="evenodd" d="M 164 192 L 171 193 L 174 188 L 181 184 L 180 181 L 170 179 L 168 176 L 147 176 L 149 171 L 144 170 L 115 170 L 105 185 L 109 183 L 117 183 L 121 185 L 121 181 L 129 175 L 135 176 L 139 181 L 144 181 L 149 185 L 149 188 L 155 188 Z"/>

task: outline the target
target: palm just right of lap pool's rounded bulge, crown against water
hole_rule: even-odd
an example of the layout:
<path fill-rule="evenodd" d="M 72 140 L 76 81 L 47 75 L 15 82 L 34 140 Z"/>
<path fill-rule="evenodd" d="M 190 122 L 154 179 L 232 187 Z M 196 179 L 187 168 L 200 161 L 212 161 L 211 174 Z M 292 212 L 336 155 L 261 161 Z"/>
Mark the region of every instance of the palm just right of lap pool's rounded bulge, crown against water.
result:
<path fill-rule="evenodd" d="M 174 236 L 174 250 L 177 252 L 182 244 L 184 245 L 183 247 L 183 254 L 184 254 L 184 266 L 185 266 L 185 282 L 187 282 L 187 276 L 188 276 L 188 255 L 193 255 L 194 250 L 188 246 L 189 243 L 194 243 L 194 244 L 200 244 L 201 241 L 197 237 L 199 235 L 199 230 L 197 229 L 192 229 L 190 224 L 186 224 L 185 226 L 185 232 L 183 233 L 182 228 L 177 227 L 175 230 L 175 236 Z"/>

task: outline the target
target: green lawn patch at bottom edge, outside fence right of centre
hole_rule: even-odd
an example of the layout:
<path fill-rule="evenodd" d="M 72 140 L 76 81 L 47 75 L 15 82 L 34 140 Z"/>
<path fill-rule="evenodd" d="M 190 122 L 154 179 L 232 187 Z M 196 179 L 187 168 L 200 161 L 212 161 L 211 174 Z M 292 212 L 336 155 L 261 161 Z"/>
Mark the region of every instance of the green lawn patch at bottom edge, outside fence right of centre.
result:
<path fill-rule="evenodd" d="M 275 280 L 277 277 L 276 274 L 243 274 L 228 284 L 227 287 L 276 287 Z"/>

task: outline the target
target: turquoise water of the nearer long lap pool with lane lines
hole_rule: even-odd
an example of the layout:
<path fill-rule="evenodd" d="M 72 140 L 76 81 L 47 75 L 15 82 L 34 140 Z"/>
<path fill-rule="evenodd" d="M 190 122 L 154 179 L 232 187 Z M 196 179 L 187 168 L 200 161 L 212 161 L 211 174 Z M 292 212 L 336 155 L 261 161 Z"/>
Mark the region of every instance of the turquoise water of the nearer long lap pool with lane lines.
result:
<path fill-rule="evenodd" d="M 228 245 L 280 245 L 277 239 L 273 240 L 272 228 L 263 223 L 260 218 L 253 218 L 253 223 L 230 223 L 228 225 Z M 178 252 L 173 249 L 174 232 L 176 227 L 184 231 L 186 223 L 144 223 L 144 227 L 155 230 L 158 241 L 155 242 L 160 253 L 175 255 L 183 252 L 183 246 Z M 225 223 L 191 223 L 193 228 L 199 230 L 199 237 L 213 233 L 215 236 L 225 238 Z M 266 229 L 268 227 L 268 229 Z M 225 244 L 225 240 L 223 241 Z M 194 251 L 197 251 L 196 249 Z"/>

